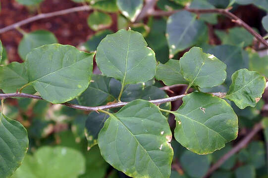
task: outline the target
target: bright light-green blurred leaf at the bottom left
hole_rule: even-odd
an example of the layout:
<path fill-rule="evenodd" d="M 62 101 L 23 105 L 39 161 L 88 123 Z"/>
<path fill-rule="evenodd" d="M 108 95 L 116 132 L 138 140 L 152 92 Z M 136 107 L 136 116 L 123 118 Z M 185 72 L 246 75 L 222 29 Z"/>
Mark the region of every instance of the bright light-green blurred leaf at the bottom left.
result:
<path fill-rule="evenodd" d="M 84 171 L 85 159 L 79 151 L 44 146 L 27 155 L 12 178 L 76 178 Z"/>

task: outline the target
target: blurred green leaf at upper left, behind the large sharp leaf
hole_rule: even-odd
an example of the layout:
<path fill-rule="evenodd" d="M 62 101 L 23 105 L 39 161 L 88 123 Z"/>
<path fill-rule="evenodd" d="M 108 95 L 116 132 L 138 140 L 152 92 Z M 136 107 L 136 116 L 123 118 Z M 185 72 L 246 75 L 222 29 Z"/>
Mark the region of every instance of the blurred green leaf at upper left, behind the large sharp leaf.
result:
<path fill-rule="evenodd" d="M 37 30 L 23 35 L 18 46 L 18 53 L 25 60 L 26 55 L 34 48 L 55 43 L 57 43 L 57 39 L 53 33 L 45 30 Z"/>

